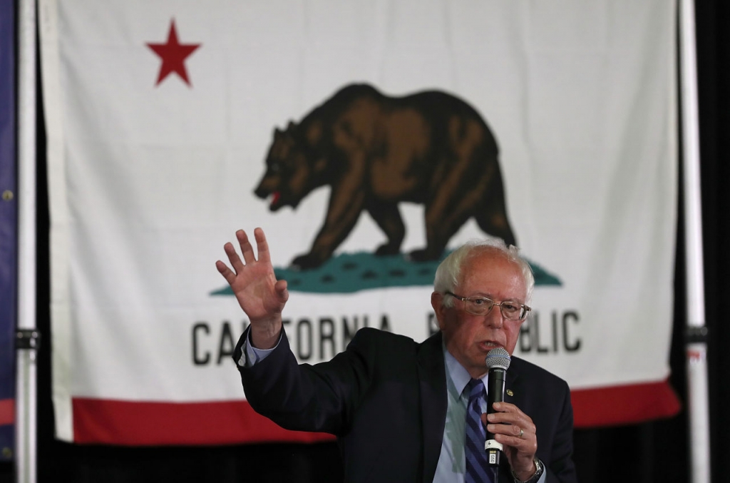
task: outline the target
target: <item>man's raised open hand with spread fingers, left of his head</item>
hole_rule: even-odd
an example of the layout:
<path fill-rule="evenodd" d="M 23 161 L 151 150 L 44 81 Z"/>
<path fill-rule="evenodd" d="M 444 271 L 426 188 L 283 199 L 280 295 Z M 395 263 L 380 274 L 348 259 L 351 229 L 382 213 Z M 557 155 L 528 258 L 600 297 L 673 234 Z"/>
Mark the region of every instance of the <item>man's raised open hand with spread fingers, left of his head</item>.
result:
<path fill-rule="evenodd" d="M 220 275 L 226 278 L 239 305 L 248 316 L 253 346 L 258 349 L 271 349 L 279 340 L 282 327 L 281 313 L 289 298 L 289 292 L 286 289 L 286 281 L 277 281 L 274 276 L 264 230 L 256 228 L 253 230 L 253 235 L 256 240 L 258 260 L 253 254 L 253 246 L 246 232 L 239 229 L 236 238 L 241 247 L 243 261 L 236 253 L 233 244 L 226 243 L 223 250 L 226 251 L 233 270 L 220 260 L 215 262 L 215 267 Z"/>

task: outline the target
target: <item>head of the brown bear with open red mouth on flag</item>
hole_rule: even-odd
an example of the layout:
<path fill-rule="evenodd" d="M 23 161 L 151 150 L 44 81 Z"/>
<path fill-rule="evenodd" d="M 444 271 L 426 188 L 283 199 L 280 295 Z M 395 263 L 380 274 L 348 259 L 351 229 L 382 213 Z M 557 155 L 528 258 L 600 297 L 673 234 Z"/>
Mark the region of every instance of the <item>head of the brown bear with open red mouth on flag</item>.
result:
<path fill-rule="evenodd" d="M 284 131 L 274 129 L 274 140 L 266 156 L 266 172 L 254 190 L 257 197 L 271 196 L 269 210 L 283 206 L 296 208 L 312 189 L 321 186 L 318 172 L 322 161 L 315 161 L 307 137 L 290 122 Z"/>

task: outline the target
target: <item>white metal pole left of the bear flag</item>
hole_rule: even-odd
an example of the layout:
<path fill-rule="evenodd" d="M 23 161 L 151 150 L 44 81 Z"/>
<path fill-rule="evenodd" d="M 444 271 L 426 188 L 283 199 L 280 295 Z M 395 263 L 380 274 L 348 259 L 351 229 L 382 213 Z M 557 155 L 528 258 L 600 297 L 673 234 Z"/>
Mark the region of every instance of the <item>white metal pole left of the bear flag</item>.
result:
<path fill-rule="evenodd" d="M 36 482 L 36 2 L 18 2 L 16 481 Z"/>

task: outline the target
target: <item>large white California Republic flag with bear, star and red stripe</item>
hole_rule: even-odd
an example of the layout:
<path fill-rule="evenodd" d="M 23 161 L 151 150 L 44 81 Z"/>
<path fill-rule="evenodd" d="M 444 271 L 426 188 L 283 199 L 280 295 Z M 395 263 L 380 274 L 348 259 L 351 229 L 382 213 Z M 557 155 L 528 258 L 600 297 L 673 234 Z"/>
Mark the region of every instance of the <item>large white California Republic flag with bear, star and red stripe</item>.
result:
<path fill-rule="evenodd" d="M 40 1 L 58 438 L 330 437 L 245 402 L 214 262 L 254 227 L 301 362 L 423 341 L 438 259 L 496 236 L 537 279 L 515 355 L 577 427 L 675 414 L 675 7 Z"/>

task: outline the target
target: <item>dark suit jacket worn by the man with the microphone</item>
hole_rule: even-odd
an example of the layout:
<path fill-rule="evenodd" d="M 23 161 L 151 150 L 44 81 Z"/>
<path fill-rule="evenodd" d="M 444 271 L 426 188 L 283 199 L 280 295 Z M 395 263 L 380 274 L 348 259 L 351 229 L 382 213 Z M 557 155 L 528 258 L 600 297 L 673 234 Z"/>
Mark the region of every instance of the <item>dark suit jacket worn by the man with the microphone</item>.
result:
<path fill-rule="evenodd" d="M 241 356 L 244 332 L 234 360 Z M 441 452 L 447 393 L 440 332 L 423 343 L 359 330 L 347 349 L 318 365 L 298 365 L 284 335 L 269 357 L 239 366 L 246 398 L 290 430 L 337 436 L 347 482 L 431 482 Z M 505 400 L 537 426 L 546 482 L 575 482 L 573 412 L 568 385 L 512 357 Z M 500 482 L 512 483 L 507 458 Z"/>

